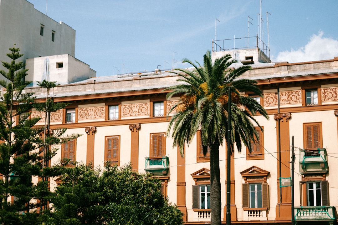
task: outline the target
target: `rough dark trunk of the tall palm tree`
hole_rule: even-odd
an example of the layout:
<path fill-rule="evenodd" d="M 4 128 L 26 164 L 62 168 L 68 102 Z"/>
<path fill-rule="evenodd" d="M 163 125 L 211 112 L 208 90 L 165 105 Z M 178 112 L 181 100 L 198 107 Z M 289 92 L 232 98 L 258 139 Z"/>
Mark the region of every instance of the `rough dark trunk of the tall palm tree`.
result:
<path fill-rule="evenodd" d="M 210 208 L 211 225 L 221 224 L 221 181 L 219 173 L 219 142 L 215 141 L 210 150 Z"/>

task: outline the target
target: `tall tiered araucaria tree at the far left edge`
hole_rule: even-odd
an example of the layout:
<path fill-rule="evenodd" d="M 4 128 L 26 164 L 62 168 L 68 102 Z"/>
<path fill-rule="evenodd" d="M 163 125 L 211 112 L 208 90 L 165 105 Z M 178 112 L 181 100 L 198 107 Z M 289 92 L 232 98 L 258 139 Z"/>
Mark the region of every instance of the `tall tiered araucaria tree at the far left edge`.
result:
<path fill-rule="evenodd" d="M 24 81 L 27 70 L 22 68 L 25 64 L 15 61 L 22 56 L 20 49 L 9 50 L 11 53 L 6 55 L 12 61 L 2 62 L 8 72 L 0 70 L 6 78 L 0 80 L 5 88 L 0 93 L 0 223 L 27 224 L 25 220 L 35 215 L 22 217 L 20 212 L 28 213 L 32 208 L 31 177 L 40 170 L 39 151 L 35 150 L 33 139 L 42 130 L 33 128 L 40 118 L 29 119 L 27 113 L 34 98 L 33 93 L 24 92 L 30 83 Z M 10 199 L 14 200 L 12 204 Z"/>

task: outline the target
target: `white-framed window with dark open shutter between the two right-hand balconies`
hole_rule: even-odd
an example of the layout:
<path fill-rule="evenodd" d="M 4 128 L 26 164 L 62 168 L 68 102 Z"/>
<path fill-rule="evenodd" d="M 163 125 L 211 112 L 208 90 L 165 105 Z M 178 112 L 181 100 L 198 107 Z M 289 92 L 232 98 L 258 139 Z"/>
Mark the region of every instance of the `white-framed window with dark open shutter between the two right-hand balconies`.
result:
<path fill-rule="evenodd" d="M 309 181 L 307 183 L 308 206 L 329 205 L 328 181 Z"/>

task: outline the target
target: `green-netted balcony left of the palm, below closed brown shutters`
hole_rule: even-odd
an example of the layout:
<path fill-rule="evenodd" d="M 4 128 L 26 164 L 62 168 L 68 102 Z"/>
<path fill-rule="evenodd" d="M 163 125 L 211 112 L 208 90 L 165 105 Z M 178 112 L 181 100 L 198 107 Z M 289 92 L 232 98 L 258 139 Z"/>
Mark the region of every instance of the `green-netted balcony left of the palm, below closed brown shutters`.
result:
<path fill-rule="evenodd" d="M 162 158 L 145 158 L 145 171 L 154 175 L 167 175 L 169 170 L 169 157 L 164 156 Z"/>

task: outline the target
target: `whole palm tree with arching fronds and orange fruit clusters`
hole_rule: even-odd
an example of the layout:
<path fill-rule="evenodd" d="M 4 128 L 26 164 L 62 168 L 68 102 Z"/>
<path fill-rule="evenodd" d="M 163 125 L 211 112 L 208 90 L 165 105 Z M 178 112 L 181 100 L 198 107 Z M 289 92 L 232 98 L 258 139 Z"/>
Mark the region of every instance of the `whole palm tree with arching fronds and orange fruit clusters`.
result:
<path fill-rule="evenodd" d="M 203 66 L 188 59 L 183 62 L 191 64 L 194 69 L 176 69 L 172 72 L 180 76 L 177 81 L 182 84 L 173 85 L 167 90 L 167 98 L 179 95 L 179 102 L 170 112 L 176 109 L 172 116 L 167 135 L 171 132 L 174 147 L 178 145 L 183 156 L 185 143 L 189 145 L 196 132 L 201 132 L 203 152 L 210 148 L 210 182 L 211 182 L 211 225 L 221 224 L 221 183 L 219 171 L 219 147 L 227 137 L 228 122 L 228 89 L 231 88 L 231 150 L 234 144 L 240 152 L 242 143 L 251 149 L 250 140 L 258 139 L 255 125 L 259 126 L 254 115 L 260 113 L 268 119 L 265 109 L 250 96 L 251 92 L 262 96 L 257 82 L 250 79 L 240 79 L 240 76 L 250 70 L 250 66 L 230 68 L 237 62 L 230 55 L 216 58 L 214 63 L 211 52 L 203 57 Z"/>

